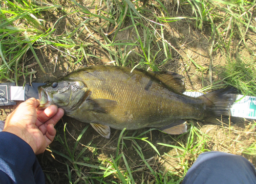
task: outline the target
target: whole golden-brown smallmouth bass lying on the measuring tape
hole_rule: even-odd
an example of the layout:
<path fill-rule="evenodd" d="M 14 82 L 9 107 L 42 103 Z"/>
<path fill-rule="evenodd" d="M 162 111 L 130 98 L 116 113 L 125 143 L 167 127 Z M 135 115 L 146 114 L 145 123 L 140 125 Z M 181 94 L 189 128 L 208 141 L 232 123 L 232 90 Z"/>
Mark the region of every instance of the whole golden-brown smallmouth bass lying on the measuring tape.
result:
<path fill-rule="evenodd" d="M 167 134 L 186 132 L 187 119 L 219 123 L 236 100 L 237 90 L 225 88 L 194 98 L 182 94 L 183 76 L 120 66 L 81 68 L 38 87 L 39 107 L 55 104 L 66 115 L 90 123 L 103 137 L 110 127 L 155 127 Z"/>

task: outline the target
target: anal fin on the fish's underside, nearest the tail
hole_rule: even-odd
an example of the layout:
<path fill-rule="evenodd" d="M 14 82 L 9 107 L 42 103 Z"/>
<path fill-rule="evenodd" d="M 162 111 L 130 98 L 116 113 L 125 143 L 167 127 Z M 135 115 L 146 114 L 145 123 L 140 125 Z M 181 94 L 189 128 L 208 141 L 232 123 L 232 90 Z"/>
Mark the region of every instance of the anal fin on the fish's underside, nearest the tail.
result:
<path fill-rule="evenodd" d="M 180 120 L 162 127 L 158 127 L 158 129 L 162 130 L 166 134 L 173 134 L 173 135 L 183 134 L 187 132 L 187 125 L 184 123 L 185 123 L 184 120 Z"/>

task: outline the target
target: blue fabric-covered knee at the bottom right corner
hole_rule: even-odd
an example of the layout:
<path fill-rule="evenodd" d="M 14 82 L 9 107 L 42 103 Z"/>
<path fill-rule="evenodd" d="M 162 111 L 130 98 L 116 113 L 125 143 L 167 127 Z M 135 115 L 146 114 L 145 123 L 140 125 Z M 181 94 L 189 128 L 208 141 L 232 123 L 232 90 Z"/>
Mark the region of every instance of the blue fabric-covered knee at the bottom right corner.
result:
<path fill-rule="evenodd" d="M 188 169 L 182 184 L 255 183 L 255 167 L 243 156 L 219 151 L 205 152 Z"/>

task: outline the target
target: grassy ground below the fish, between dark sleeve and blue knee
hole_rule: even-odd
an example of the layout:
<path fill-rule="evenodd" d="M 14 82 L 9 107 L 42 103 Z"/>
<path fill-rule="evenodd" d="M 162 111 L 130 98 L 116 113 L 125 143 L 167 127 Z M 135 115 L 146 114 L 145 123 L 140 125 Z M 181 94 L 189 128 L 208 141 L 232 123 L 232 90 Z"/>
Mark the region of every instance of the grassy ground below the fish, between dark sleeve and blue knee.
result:
<path fill-rule="evenodd" d="M 220 137 L 220 131 L 218 130 L 222 130 L 224 136 Z M 98 144 L 97 138 L 95 140 L 91 139 L 87 145 L 79 143 L 82 147 L 77 149 L 78 142 L 85 141 L 85 139 L 82 140 L 81 138 L 82 135 L 86 134 L 86 131 L 88 131 L 88 126 L 80 134 L 78 131 L 78 137 L 74 138 L 72 135 L 66 134 L 67 127 L 65 124 L 63 133 L 59 133 L 56 140 L 64 148 L 62 152 L 68 154 L 63 154 L 54 148 L 50 149 L 55 156 L 59 155 L 66 161 L 68 167 L 66 175 L 70 183 L 95 183 L 96 181 L 102 183 L 135 183 L 135 181 L 140 181 L 141 183 L 148 181 L 180 183 L 187 170 L 202 152 L 218 150 L 233 154 L 247 154 L 252 157 L 255 155 L 255 122 L 248 124 L 245 129 L 217 125 L 204 126 L 204 128 L 199 129 L 197 124 L 190 122 L 188 132 L 179 136 L 164 136 L 163 133 L 154 129 L 149 129 L 145 132 L 140 131 L 139 133 L 137 131 L 126 131 L 124 128 L 121 132 L 119 131 L 119 134 L 114 135 L 113 140 L 111 140 L 112 143 L 108 144 L 109 146 L 116 146 L 117 149 L 112 151 L 105 160 L 100 159 L 100 153 L 104 152 L 100 150 L 105 145 L 104 143 L 104 146 Z M 154 141 L 150 141 L 150 137 L 147 137 L 151 135 L 152 131 L 155 131 L 154 135 L 159 133 L 159 137 L 165 137 L 161 140 L 167 139 L 172 141 L 172 144 L 160 142 L 154 145 Z M 250 137 L 248 137 L 248 134 Z M 76 140 L 73 148 L 70 147 L 72 141 L 67 142 L 67 138 Z M 248 139 L 247 143 L 244 139 Z M 93 142 L 97 144 L 93 144 Z M 243 147 L 245 145 L 250 146 Z M 161 150 L 160 153 L 158 149 L 161 149 L 161 147 L 165 147 L 167 152 Z M 155 156 L 148 158 L 145 151 L 147 149 L 150 150 L 151 155 Z M 139 157 L 139 160 L 134 160 L 131 150 L 136 154 L 135 157 Z M 86 155 L 87 159 L 84 159 L 84 155 Z M 169 162 L 174 161 L 176 161 L 175 166 L 165 168 Z M 138 173 L 147 174 L 139 174 L 141 178 L 138 179 L 136 177 Z"/>

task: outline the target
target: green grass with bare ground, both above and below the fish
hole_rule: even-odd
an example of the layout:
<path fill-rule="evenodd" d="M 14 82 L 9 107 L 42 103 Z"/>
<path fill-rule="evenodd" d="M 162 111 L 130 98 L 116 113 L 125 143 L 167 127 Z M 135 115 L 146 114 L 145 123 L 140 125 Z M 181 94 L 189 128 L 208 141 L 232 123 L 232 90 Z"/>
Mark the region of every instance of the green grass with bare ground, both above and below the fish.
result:
<path fill-rule="evenodd" d="M 255 4 L 1 1 L 0 81 L 24 84 L 36 75 L 42 82 L 40 77 L 60 76 L 84 65 L 112 64 L 175 71 L 186 77 L 188 90 L 231 85 L 256 96 Z M 59 146 L 49 150 L 65 168 L 62 179 L 69 183 L 180 183 L 197 156 L 208 150 L 241 154 L 255 164 L 255 122 L 243 128 L 189 124 L 180 136 L 123 130 L 109 142 L 83 140 L 88 126 L 75 137 L 65 125 L 56 136 Z M 106 150 L 106 145 L 116 150 Z M 53 173 L 47 174 L 48 183 L 56 181 Z"/>

